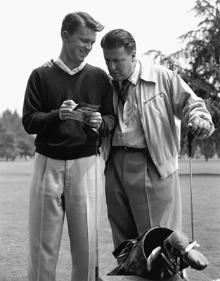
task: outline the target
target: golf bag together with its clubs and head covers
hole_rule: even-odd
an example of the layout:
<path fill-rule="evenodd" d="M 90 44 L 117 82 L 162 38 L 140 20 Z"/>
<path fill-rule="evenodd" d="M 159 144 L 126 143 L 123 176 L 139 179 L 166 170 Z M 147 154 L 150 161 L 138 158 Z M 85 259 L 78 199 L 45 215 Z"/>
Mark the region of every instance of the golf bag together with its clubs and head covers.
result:
<path fill-rule="evenodd" d="M 128 240 L 113 251 L 119 265 L 108 275 L 137 275 L 140 277 L 162 280 L 190 266 L 188 252 L 193 249 L 188 238 L 181 232 L 169 228 L 156 227 L 147 230 L 135 240 Z M 194 250 L 195 269 L 207 266 L 207 259 Z M 192 264 L 194 264 L 192 263 Z"/>

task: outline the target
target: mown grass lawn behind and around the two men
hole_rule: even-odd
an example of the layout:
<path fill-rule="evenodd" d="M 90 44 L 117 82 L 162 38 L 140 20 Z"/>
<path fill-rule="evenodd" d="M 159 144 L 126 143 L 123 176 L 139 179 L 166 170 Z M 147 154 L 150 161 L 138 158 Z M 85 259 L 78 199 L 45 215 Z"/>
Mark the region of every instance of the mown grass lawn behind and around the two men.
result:
<path fill-rule="evenodd" d="M 183 202 L 183 232 L 191 237 L 190 181 L 188 159 L 180 160 L 180 181 Z M 27 280 L 27 214 L 33 160 L 0 161 L 0 281 Z M 209 162 L 193 159 L 194 237 L 209 260 L 202 272 L 220 278 L 220 160 Z M 105 204 L 99 240 L 100 275 L 116 266 L 112 256 L 112 237 Z M 67 226 L 58 261 L 57 281 L 70 280 L 70 253 Z M 46 280 L 45 280 L 46 281 Z"/>

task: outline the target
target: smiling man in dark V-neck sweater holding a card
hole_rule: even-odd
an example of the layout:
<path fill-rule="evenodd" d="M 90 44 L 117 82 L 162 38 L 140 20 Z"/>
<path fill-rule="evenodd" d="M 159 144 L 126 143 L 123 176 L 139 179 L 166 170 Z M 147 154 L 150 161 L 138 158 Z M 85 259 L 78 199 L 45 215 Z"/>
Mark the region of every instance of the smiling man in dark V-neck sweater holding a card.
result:
<path fill-rule="evenodd" d="M 30 188 L 28 280 L 55 281 L 66 214 L 72 256 L 72 281 L 94 281 L 96 266 L 96 150 L 83 126 L 108 136 L 115 126 L 108 75 L 84 62 L 103 25 L 83 12 L 65 16 L 60 56 L 51 68 L 39 67 L 27 82 L 22 124 L 36 134 Z M 79 102 L 101 105 L 70 117 Z M 101 145 L 101 140 L 98 146 Z M 98 197 L 102 178 L 98 157 Z M 98 214 L 100 215 L 100 214 Z"/>

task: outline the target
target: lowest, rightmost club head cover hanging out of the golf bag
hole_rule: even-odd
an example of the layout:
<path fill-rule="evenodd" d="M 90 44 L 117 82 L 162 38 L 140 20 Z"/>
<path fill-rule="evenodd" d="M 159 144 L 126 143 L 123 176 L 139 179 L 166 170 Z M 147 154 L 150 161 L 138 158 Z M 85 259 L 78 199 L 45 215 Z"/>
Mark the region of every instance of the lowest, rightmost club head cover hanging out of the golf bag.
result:
<path fill-rule="evenodd" d="M 195 249 L 190 249 L 190 251 L 184 255 L 184 260 L 195 270 L 203 270 L 209 264 L 206 257 Z"/>

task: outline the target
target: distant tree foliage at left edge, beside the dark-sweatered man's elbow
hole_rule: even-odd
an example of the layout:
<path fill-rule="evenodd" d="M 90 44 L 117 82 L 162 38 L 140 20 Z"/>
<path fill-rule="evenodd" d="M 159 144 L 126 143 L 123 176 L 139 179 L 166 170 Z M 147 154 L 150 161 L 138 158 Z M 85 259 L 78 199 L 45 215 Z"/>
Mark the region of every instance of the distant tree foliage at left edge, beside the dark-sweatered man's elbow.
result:
<path fill-rule="evenodd" d="M 34 155 L 34 137 L 22 126 L 18 113 L 6 110 L 0 118 L 0 157 L 15 160 L 16 157 Z"/>

